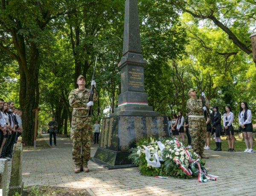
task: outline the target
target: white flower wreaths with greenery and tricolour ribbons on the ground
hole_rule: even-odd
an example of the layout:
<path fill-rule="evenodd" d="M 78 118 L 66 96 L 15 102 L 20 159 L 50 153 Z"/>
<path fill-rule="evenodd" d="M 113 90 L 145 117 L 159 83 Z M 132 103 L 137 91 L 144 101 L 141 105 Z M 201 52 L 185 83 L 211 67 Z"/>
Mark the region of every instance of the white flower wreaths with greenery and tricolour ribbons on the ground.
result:
<path fill-rule="evenodd" d="M 205 161 L 186 149 L 177 138 L 148 138 L 131 148 L 129 159 L 139 167 L 145 176 L 173 176 L 189 179 L 198 176 L 199 182 L 216 180 L 207 176 Z"/>

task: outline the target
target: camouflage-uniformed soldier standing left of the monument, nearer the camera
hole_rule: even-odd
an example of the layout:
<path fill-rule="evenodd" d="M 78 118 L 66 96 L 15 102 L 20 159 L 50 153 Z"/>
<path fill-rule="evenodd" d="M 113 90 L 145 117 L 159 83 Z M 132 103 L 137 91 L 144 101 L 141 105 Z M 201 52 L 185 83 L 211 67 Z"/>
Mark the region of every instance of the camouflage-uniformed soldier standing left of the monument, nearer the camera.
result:
<path fill-rule="evenodd" d="M 81 170 L 89 172 L 87 162 L 90 159 L 91 141 L 91 121 L 88 116 L 90 106 L 93 101 L 97 101 L 96 92 L 93 93 L 93 101 L 89 101 L 90 89 L 85 88 L 85 78 L 79 75 L 77 78 L 78 88 L 70 92 L 68 99 L 70 106 L 73 107 L 70 137 L 73 140 L 72 159 L 75 161 L 75 173 Z M 91 85 L 96 86 L 95 81 Z"/>

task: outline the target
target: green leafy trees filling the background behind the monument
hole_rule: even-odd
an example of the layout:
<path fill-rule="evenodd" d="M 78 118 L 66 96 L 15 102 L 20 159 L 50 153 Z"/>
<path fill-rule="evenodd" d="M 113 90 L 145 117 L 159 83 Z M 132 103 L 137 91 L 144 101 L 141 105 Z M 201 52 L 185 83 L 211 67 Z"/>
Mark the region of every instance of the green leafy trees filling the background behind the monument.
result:
<path fill-rule="evenodd" d="M 199 90 L 201 73 L 212 105 L 229 104 L 237 113 L 243 100 L 256 111 L 249 39 L 255 1 L 140 0 L 138 5 L 145 91 L 155 111 L 185 112 L 187 92 Z M 90 85 L 96 56 L 102 113 L 94 120 L 117 107 L 124 6 L 123 0 L 1 0 L 0 96 L 23 110 L 26 144 L 33 142 L 32 110 L 38 107 L 39 129 L 54 116 L 58 133 L 68 135 L 68 94 L 80 74 Z"/>

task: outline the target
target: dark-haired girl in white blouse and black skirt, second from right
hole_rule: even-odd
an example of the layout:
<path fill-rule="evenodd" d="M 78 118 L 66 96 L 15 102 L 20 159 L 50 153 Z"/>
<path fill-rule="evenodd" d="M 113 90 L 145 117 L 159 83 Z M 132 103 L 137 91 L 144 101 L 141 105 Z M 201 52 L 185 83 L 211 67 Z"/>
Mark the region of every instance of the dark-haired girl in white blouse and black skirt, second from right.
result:
<path fill-rule="evenodd" d="M 227 142 L 229 149 L 227 152 L 234 152 L 235 146 L 235 137 L 234 137 L 234 128 L 233 128 L 233 121 L 234 121 L 234 114 L 231 111 L 230 106 L 225 106 L 226 112 L 223 115 L 223 127 L 227 135 Z"/>

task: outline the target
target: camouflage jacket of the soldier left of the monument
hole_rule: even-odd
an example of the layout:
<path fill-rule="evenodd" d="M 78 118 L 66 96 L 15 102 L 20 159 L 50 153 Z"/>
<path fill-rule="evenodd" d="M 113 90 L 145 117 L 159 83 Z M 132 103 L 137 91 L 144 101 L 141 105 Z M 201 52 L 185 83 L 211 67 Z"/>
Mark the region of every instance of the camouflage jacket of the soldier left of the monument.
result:
<path fill-rule="evenodd" d="M 90 89 L 79 90 L 74 89 L 70 92 L 68 99 L 69 104 L 73 107 L 72 115 L 76 117 L 86 117 L 89 113 L 89 108 L 87 103 L 89 102 Z M 93 93 L 93 101 L 97 101 L 98 96 L 96 91 Z"/>

